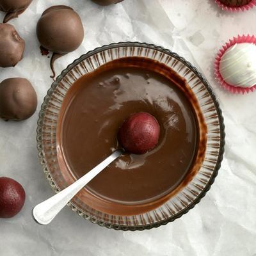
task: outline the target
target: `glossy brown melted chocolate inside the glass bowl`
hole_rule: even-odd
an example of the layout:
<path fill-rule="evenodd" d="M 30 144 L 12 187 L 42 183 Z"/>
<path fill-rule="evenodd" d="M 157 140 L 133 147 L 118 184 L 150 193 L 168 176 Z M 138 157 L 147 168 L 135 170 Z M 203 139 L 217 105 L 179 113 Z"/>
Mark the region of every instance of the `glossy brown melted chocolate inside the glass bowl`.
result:
<path fill-rule="evenodd" d="M 163 203 L 192 179 L 204 157 L 205 138 L 200 138 L 198 125 L 198 116 L 204 122 L 202 115 L 191 104 L 197 104 L 195 95 L 188 90 L 173 70 L 143 58 L 112 61 L 72 85 L 58 123 L 58 160 L 63 172 L 76 179 L 119 147 L 118 129 L 131 113 L 150 113 L 161 129 L 154 150 L 125 154 L 86 186 L 94 198 L 87 200 L 89 205 L 133 214 L 135 208 L 120 212 L 112 203 L 156 207 L 152 202 Z M 102 209 L 95 198 L 110 206 Z"/>

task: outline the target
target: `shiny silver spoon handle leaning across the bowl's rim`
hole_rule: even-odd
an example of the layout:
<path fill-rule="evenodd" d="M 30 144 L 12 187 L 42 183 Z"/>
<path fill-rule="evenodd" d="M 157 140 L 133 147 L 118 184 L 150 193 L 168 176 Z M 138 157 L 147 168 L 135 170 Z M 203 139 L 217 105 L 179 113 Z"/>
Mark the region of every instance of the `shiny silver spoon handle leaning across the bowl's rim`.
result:
<path fill-rule="evenodd" d="M 63 207 L 97 174 L 112 163 L 122 154 L 122 150 L 116 150 L 100 164 L 95 166 L 90 172 L 76 180 L 73 184 L 60 191 L 58 194 L 36 205 L 33 209 L 33 217 L 42 225 L 49 224 Z"/>

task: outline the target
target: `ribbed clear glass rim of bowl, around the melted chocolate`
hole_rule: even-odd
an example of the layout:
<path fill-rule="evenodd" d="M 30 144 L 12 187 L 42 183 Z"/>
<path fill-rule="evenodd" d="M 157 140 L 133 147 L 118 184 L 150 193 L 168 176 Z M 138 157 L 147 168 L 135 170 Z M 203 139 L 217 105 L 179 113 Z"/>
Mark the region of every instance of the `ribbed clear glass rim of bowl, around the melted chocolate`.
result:
<path fill-rule="evenodd" d="M 58 165 L 56 129 L 61 104 L 68 88 L 88 72 L 118 58 L 141 56 L 164 63 L 186 78 L 207 125 L 205 158 L 189 184 L 153 211 L 134 216 L 117 216 L 92 209 L 79 195 L 68 206 L 86 220 L 116 230 L 143 230 L 159 227 L 180 218 L 195 206 L 214 182 L 223 159 L 225 132 L 220 106 L 205 77 L 188 61 L 163 47 L 138 42 L 105 45 L 84 54 L 61 72 L 45 96 L 39 113 L 37 147 L 44 173 L 56 193 L 68 186 Z"/>

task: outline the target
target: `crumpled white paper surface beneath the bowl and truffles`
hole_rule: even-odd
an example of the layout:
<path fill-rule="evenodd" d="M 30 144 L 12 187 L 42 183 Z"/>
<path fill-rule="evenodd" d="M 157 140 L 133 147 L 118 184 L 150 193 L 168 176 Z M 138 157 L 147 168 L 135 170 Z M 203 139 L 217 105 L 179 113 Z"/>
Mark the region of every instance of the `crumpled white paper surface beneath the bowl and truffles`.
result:
<path fill-rule="evenodd" d="M 33 205 L 52 195 L 35 141 L 38 111 L 51 85 L 49 59 L 40 55 L 35 26 L 40 13 L 52 4 L 72 6 L 86 29 L 83 45 L 56 62 L 57 72 L 100 45 L 138 40 L 178 52 L 209 79 L 225 118 L 225 159 L 211 191 L 179 220 L 143 232 L 122 232 L 84 221 L 67 207 L 48 226 L 32 220 Z M 27 194 L 20 214 L 0 219 L 1 256 L 256 255 L 256 93 L 223 91 L 212 69 L 216 52 L 228 38 L 256 34 L 256 8 L 227 13 L 214 0 L 125 0 L 106 8 L 89 0 L 33 0 L 10 23 L 26 40 L 26 52 L 16 67 L 0 68 L 0 81 L 27 77 L 38 94 L 38 108 L 25 122 L 0 120 L 0 176 L 18 180 Z"/>

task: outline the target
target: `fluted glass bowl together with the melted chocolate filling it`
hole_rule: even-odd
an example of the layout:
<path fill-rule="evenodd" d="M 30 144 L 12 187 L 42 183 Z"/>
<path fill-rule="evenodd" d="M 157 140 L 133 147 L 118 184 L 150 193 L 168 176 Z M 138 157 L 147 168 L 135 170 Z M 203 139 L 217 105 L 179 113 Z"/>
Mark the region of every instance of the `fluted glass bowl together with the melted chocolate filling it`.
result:
<path fill-rule="evenodd" d="M 37 140 L 55 191 L 111 154 L 118 147 L 118 127 L 131 113 L 143 111 L 160 124 L 157 147 L 120 157 L 70 202 L 99 225 L 158 227 L 199 202 L 223 155 L 218 102 L 190 63 L 140 43 L 88 52 L 63 71 L 45 97 Z"/>

